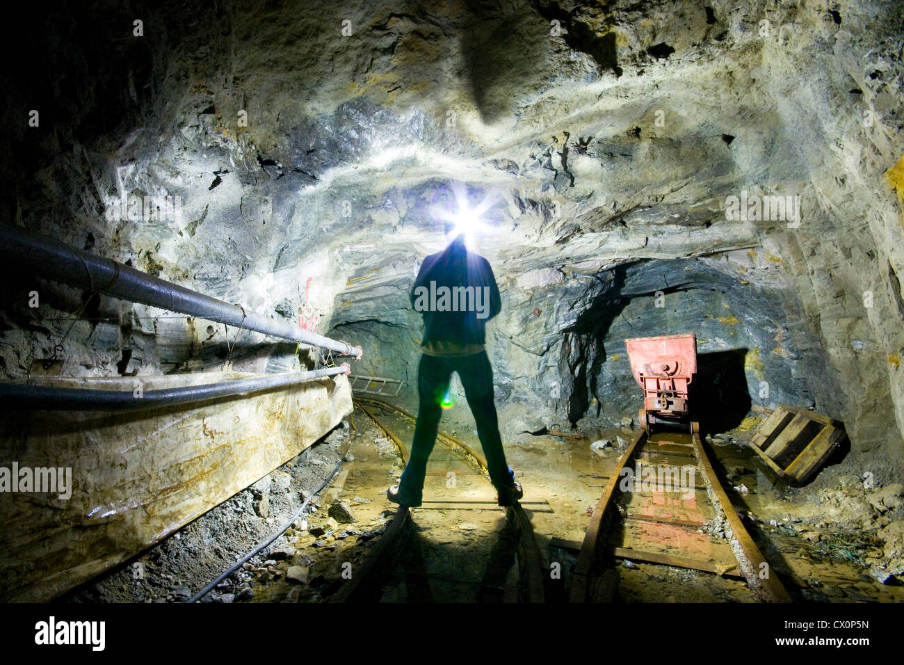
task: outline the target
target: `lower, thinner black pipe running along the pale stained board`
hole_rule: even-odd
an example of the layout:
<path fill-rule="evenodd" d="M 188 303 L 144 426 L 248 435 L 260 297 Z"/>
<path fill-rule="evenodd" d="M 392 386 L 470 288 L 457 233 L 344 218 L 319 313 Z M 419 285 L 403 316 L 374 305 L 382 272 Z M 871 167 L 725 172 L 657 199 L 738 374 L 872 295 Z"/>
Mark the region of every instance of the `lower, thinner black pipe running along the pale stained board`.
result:
<path fill-rule="evenodd" d="M 137 411 L 174 404 L 205 402 L 234 394 L 256 393 L 269 388 L 294 385 L 337 374 L 348 374 L 348 364 L 315 369 L 310 372 L 258 376 L 219 384 L 185 385 L 138 392 L 97 390 L 53 385 L 31 385 L 8 381 L 0 383 L 0 411 L 13 409 L 41 411 Z M 139 381 L 140 379 L 136 379 Z M 140 394 L 140 396 L 139 396 Z"/>

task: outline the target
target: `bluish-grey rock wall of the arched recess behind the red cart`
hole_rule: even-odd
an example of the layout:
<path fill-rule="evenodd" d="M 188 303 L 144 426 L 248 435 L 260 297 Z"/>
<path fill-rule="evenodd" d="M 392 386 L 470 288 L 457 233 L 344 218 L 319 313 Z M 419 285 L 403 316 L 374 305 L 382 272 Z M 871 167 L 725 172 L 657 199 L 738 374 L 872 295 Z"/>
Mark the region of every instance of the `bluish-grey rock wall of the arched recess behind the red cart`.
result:
<path fill-rule="evenodd" d="M 820 376 L 818 343 L 795 313 L 793 291 L 752 281 L 755 265 L 742 279 L 728 258 L 645 261 L 603 276 L 560 349 L 561 378 L 575 377 L 566 391 L 572 422 L 604 409 L 619 419 L 638 404 L 626 338 L 683 332 L 697 336 L 693 400 L 704 426 L 737 427 L 752 404 L 816 405 L 816 386 L 833 377 Z"/>

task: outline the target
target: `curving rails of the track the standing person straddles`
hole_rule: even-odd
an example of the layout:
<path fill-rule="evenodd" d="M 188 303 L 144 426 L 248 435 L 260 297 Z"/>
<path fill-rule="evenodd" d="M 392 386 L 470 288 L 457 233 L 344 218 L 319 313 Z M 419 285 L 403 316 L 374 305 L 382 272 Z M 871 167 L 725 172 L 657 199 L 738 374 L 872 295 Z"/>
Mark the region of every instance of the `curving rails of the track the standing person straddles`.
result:
<path fill-rule="evenodd" d="M 407 463 L 409 457 L 407 446 L 392 432 L 391 427 L 377 412 L 378 410 L 389 411 L 409 420 L 411 423 L 416 423 L 417 417 L 395 404 L 384 402 L 381 399 L 359 395 L 355 397 L 354 402 L 395 443 L 399 449 L 402 462 Z M 484 475 L 487 479 L 489 478 L 486 470 L 486 460 L 479 452 L 446 432 L 438 432 L 438 440 L 446 444 L 452 451 L 456 451 L 466 461 L 469 461 L 481 475 Z M 543 603 L 543 579 L 546 576 L 546 571 L 542 564 L 540 547 L 537 545 L 536 537 L 533 534 L 531 520 L 517 502 L 514 506 L 506 508 L 506 518 L 513 524 L 514 530 L 518 535 L 519 573 L 525 598 L 529 603 Z M 409 526 L 410 522 L 409 508 L 399 508 L 392 517 L 389 526 L 381 535 L 379 542 L 372 546 L 364 557 L 363 564 L 358 566 L 357 575 L 355 575 L 353 580 L 346 582 L 339 592 L 334 594 L 331 598 L 332 603 L 354 602 L 360 598 L 364 587 L 372 584 L 373 577 L 381 575 L 381 573 L 385 573 L 391 568 L 394 564 L 393 558 L 398 555 L 403 534 L 408 533 L 406 527 Z"/>

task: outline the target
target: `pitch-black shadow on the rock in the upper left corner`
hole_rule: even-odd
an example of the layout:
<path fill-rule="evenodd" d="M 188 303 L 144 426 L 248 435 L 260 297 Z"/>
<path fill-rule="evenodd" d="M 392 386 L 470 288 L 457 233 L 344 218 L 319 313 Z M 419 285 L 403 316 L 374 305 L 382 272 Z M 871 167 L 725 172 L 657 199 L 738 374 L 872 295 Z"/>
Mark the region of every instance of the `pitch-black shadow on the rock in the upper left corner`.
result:
<path fill-rule="evenodd" d="M 155 52 L 165 52 L 166 32 L 149 26 L 171 9 L 157 14 L 109 0 L 26 4 L 15 21 L 6 22 L 0 49 L 5 62 L 17 64 L 5 71 L 2 83 L 8 142 L 0 173 L 7 192 L 21 185 L 15 197 L 0 197 L 7 211 L 15 210 L 18 195 L 40 187 L 33 174 L 42 166 L 63 153 L 81 157 L 80 144 L 90 137 L 146 118 L 156 92 Z M 132 36 L 138 16 L 148 25 L 143 38 Z M 39 111 L 36 125 L 24 115 L 30 109 Z"/>

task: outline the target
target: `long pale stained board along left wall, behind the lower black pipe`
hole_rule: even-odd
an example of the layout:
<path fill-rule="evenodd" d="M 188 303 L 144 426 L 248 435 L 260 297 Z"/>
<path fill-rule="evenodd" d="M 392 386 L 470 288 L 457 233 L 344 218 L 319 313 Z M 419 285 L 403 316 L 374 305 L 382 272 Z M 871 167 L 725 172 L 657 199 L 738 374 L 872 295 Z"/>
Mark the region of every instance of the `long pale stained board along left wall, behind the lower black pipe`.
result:
<path fill-rule="evenodd" d="M 253 378 L 142 376 L 143 390 Z M 135 378 L 33 377 L 132 394 Z M 13 411 L 0 460 L 71 470 L 71 497 L 0 492 L 0 602 L 41 603 L 122 564 L 305 451 L 352 411 L 344 375 L 131 413 Z"/>

